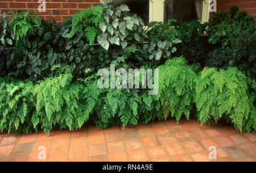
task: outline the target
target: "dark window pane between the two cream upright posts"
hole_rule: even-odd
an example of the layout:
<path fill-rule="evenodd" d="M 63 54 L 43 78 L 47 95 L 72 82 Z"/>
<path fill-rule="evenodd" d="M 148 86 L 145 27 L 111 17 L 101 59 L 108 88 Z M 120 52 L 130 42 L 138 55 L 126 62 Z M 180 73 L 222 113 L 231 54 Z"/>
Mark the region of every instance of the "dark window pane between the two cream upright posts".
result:
<path fill-rule="evenodd" d="M 164 2 L 164 22 L 168 19 L 198 20 L 194 0 L 166 0 Z"/>

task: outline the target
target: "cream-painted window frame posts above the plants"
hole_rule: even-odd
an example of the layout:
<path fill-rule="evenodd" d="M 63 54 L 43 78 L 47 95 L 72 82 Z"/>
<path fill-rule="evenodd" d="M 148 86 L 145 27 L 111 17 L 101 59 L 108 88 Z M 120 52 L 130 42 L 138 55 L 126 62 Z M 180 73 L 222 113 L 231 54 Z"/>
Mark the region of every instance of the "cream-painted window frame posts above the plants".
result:
<path fill-rule="evenodd" d="M 108 3 L 112 0 L 101 0 L 101 3 Z M 164 22 L 164 2 L 165 0 L 148 0 L 149 2 L 149 22 Z M 202 0 L 203 15 L 201 23 L 209 20 L 209 0 Z M 162 11 L 162 12 L 161 12 Z"/>

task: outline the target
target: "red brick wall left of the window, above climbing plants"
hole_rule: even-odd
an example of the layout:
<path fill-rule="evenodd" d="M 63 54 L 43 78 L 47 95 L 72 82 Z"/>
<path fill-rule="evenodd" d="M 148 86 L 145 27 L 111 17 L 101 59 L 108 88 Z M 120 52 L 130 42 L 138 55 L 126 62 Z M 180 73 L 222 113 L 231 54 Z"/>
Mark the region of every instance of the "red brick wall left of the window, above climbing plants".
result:
<path fill-rule="evenodd" d="M 42 19 L 55 19 L 56 23 L 60 23 L 81 9 L 87 9 L 99 2 L 100 0 L 46 0 L 46 12 L 39 12 L 38 0 L 0 0 L 0 17 L 3 12 L 11 9 L 31 10 Z"/>

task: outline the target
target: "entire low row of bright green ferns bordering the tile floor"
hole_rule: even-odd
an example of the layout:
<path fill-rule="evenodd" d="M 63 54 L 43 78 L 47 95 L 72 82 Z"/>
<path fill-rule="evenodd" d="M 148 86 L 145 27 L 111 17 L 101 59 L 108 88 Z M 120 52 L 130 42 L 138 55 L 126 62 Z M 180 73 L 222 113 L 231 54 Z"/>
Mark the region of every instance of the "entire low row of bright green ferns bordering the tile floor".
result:
<path fill-rule="evenodd" d="M 201 123 L 232 122 L 237 130 L 255 129 L 255 108 L 250 102 L 246 77 L 236 68 L 205 68 L 197 74 L 184 58 L 159 66 L 159 92 L 137 95 L 124 89 L 100 89 L 97 80 L 72 81 L 68 67 L 56 77 L 39 81 L 0 78 L 0 130 L 32 132 L 54 128 L 79 129 L 93 121 L 101 128 L 135 126 L 154 119 L 179 121 L 197 108 Z M 95 75 L 92 76 L 92 79 Z M 154 115 L 154 116 L 153 116 Z"/>

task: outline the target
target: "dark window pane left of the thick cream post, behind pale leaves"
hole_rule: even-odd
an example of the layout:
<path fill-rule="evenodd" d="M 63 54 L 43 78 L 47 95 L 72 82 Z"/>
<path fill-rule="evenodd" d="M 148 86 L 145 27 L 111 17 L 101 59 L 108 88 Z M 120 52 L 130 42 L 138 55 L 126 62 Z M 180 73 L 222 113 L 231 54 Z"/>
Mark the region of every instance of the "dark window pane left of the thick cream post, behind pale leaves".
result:
<path fill-rule="evenodd" d="M 150 0 L 113 0 L 115 4 L 126 4 L 129 6 L 131 13 L 137 14 L 140 16 L 145 25 L 149 21 L 149 1 Z"/>

